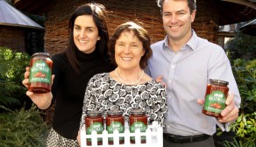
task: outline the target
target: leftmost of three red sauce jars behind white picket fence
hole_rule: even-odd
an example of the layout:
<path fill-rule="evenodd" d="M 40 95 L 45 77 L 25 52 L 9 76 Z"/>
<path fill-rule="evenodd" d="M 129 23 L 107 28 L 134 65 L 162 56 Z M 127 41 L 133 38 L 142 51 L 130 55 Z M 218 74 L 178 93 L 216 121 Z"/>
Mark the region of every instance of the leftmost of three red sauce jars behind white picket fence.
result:
<path fill-rule="evenodd" d="M 88 111 L 85 117 L 86 134 L 91 135 L 93 130 L 96 130 L 97 134 L 102 134 L 104 130 L 103 116 L 100 111 Z M 97 138 L 97 144 L 103 144 L 103 138 Z M 87 145 L 91 145 L 91 138 L 87 139 Z"/>

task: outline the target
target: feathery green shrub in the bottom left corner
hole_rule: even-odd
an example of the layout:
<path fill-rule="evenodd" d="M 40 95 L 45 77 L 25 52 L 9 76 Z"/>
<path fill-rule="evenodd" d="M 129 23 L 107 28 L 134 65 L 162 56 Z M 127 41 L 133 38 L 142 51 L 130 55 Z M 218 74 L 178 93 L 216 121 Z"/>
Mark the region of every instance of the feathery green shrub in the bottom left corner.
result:
<path fill-rule="evenodd" d="M 28 110 L 22 108 L 2 113 L 0 115 L 0 146 L 46 146 L 48 130 L 35 105 Z"/>

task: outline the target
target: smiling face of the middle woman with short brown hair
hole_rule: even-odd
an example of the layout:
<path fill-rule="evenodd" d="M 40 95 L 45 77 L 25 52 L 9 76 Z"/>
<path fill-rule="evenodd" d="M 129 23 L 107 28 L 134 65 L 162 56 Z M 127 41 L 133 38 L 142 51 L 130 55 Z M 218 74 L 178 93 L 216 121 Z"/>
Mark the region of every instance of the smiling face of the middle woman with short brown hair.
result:
<path fill-rule="evenodd" d="M 142 42 L 133 31 L 123 31 L 115 45 L 117 66 L 122 69 L 140 68 L 139 61 L 144 55 Z"/>

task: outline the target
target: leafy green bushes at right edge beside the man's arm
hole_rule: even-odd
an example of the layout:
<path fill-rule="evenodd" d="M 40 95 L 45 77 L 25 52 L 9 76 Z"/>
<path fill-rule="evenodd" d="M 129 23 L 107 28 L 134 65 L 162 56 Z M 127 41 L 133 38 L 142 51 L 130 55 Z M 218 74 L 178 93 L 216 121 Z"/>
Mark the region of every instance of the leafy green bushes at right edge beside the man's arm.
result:
<path fill-rule="evenodd" d="M 241 104 L 238 119 L 229 126 L 230 130 L 235 132 L 237 142 L 227 141 L 226 143 L 250 144 L 252 140 L 255 142 L 253 138 L 256 134 L 256 59 L 235 59 L 232 70 L 238 84 Z M 216 135 L 222 134 L 222 130 L 217 128 Z"/>

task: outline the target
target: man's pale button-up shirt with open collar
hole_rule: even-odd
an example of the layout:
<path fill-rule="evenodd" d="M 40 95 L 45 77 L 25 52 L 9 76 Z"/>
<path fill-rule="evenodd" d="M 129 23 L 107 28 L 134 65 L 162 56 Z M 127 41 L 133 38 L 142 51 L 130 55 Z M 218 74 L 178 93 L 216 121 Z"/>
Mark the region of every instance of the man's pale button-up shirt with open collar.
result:
<path fill-rule="evenodd" d="M 203 115 L 203 106 L 197 103 L 197 99 L 204 98 L 210 79 L 217 79 L 229 82 L 230 92 L 235 94 L 239 106 L 238 86 L 224 49 L 197 37 L 195 31 L 179 52 L 173 52 L 167 42 L 166 37 L 151 46 L 153 57 L 146 68 L 153 79 L 161 75 L 167 83 L 165 132 L 181 136 L 212 135 L 216 132 L 216 124 L 224 129 L 215 117 Z"/>

